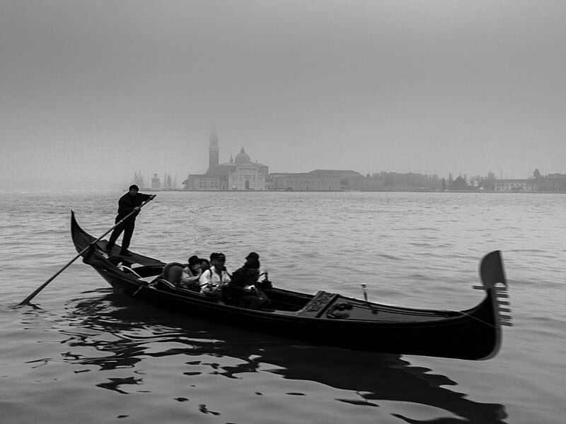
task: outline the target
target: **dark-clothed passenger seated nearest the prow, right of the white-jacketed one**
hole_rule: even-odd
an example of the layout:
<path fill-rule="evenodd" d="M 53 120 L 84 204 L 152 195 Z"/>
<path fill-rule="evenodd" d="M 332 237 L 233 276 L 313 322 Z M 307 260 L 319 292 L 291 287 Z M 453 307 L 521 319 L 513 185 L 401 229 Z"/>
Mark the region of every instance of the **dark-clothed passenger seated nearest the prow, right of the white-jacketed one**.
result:
<path fill-rule="evenodd" d="M 224 299 L 231 305 L 260 309 L 270 304 L 269 298 L 258 288 L 260 277 L 259 255 L 251 252 L 246 257 L 246 264 L 236 269 L 230 283 L 224 287 Z"/>

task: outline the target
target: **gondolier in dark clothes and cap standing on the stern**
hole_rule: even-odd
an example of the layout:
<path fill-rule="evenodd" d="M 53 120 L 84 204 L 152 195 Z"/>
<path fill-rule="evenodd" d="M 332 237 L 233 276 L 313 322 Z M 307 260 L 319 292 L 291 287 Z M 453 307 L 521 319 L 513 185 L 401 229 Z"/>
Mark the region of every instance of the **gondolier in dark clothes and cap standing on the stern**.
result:
<path fill-rule="evenodd" d="M 132 240 L 132 235 L 134 234 L 134 227 L 136 225 L 136 216 L 139 213 L 139 207 L 144 201 L 154 199 L 155 194 L 144 194 L 139 193 L 139 187 L 136 184 L 129 186 L 128 192 L 124 196 L 120 197 L 118 200 L 118 215 L 116 216 L 115 223 L 119 223 L 120 220 L 124 219 L 129 213 L 136 212 L 134 215 L 130 216 L 122 224 L 118 225 L 112 235 L 110 235 L 110 240 L 108 240 L 108 245 L 106 245 L 106 252 L 112 253 L 112 247 L 114 247 L 117 238 L 124 232 L 124 237 L 122 237 L 122 249 L 120 249 L 120 255 L 122 256 L 132 256 L 128 251 L 129 242 Z"/>

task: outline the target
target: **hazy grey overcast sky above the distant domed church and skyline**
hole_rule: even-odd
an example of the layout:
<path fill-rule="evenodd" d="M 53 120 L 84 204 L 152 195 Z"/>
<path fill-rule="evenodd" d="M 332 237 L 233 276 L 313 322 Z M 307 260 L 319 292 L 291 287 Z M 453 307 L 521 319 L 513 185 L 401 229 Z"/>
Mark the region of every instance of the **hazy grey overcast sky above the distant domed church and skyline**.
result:
<path fill-rule="evenodd" d="M 1 1 L 0 189 L 566 173 L 565 1 Z"/>

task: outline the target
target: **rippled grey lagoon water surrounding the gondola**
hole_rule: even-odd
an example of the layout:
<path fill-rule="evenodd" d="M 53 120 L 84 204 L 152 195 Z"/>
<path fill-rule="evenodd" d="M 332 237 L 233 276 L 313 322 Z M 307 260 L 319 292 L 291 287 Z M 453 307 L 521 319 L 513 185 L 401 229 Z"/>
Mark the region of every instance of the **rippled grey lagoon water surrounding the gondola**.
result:
<path fill-rule="evenodd" d="M 283 288 L 412 307 L 479 302 L 501 249 L 513 327 L 492 360 L 322 348 L 114 295 L 76 261 L 70 210 L 101 235 L 122 193 L 2 194 L 0 422 L 564 423 L 566 196 L 160 193 L 131 249 L 163 261 L 250 251 Z"/>

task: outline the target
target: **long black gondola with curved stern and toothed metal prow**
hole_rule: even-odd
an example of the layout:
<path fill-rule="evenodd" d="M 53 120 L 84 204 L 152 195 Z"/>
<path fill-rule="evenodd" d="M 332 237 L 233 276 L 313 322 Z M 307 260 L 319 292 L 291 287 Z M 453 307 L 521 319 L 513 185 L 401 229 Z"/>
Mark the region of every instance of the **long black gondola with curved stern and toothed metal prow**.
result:
<path fill-rule="evenodd" d="M 93 267 L 117 293 L 167 310 L 236 325 L 275 336 L 340 348 L 485 360 L 501 346 L 502 326 L 511 325 L 507 281 L 501 254 L 491 252 L 480 263 L 485 298 L 463 311 L 424 310 L 381 305 L 329 293 L 315 295 L 273 287 L 262 290 L 269 308 L 252 310 L 225 304 L 178 287 L 183 264 L 164 263 L 132 252 L 121 257 L 119 246 L 106 252 L 106 241 L 85 232 L 71 212 L 71 236 L 83 262 Z M 87 247 L 90 248 L 87 249 Z"/>

